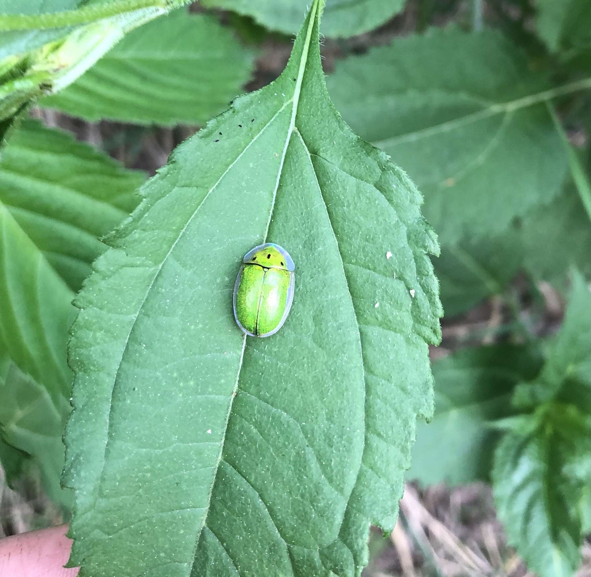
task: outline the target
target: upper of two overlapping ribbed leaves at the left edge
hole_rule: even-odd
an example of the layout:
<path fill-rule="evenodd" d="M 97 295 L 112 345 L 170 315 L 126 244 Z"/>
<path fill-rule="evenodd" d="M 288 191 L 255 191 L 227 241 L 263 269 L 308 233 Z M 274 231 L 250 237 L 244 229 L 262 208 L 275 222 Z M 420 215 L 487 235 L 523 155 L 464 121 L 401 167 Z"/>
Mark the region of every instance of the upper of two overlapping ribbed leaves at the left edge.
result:
<path fill-rule="evenodd" d="M 28 120 L 0 160 L 0 201 L 73 291 L 108 234 L 137 206 L 144 174 Z"/>

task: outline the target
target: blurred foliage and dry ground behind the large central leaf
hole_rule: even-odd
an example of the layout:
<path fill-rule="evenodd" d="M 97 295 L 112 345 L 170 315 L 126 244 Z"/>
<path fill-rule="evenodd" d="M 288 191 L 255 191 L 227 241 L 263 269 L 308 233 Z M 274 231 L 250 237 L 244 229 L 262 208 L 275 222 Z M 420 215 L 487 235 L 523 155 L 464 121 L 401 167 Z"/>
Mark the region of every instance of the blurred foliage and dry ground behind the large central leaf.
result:
<path fill-rule="evenodd" d="M 130 17 L 63 90 L 60 39 L 88 24 L 2 32 L 4 535 L 68 518 L 70 302 L 100 239 L 178 143 L 280 74 L 304 4 Z M 337 110 L 414 179 L 442 247 L 436 415 L 365 574 L 591 575 L 591 2 L 327 0 L 323 32 Z"/>

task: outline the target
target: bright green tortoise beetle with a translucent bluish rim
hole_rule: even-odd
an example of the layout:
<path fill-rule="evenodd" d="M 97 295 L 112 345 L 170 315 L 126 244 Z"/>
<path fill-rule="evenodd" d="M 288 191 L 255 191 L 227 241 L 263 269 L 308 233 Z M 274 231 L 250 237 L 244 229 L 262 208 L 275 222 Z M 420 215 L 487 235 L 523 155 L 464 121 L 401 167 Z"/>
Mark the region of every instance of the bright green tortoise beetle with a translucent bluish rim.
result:
<path fill-rule="evenodd" d="M 294 298 L 296 266 L 285 248 L 267 242 L 245 254 L 234 285 L 234 318 L 250 336 L 274 335 Z"/>

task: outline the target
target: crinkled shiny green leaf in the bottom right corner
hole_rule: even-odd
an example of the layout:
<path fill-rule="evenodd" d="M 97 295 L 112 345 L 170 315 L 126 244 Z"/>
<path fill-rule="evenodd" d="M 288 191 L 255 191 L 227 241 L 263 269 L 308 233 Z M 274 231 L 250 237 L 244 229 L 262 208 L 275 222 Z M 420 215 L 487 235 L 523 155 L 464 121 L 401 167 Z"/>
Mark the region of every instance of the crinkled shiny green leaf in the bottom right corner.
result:
<path fill-rule="evenodd" d="M 591 418 L 556 406 L 530 429 L 508 432 L 496 449 L 498 515 L 531 571 L 570 577 L 580 563 L 591 478 L 582 482 L 569 470 L 591 451 Z"/>

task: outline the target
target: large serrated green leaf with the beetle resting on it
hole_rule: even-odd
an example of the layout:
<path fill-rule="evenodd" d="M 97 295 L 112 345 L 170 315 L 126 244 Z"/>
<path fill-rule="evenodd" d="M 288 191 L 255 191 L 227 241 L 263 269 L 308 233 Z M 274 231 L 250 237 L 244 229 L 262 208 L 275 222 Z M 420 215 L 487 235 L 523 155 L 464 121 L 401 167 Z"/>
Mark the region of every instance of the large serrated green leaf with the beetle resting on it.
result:
<path fill-rule="evenodd" d="M 433 402 L 438 247 L 413 183 L 330 103 L 319 4 L 281 77 L 148 181 L 77 299 L 63 482 L 81 577 L 360 575 L 369 523 L 395 523 Z M 251 339 L 232 290 L 266 240 L 296 291 Z"/>

